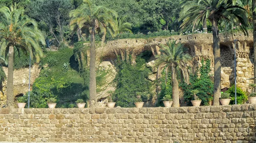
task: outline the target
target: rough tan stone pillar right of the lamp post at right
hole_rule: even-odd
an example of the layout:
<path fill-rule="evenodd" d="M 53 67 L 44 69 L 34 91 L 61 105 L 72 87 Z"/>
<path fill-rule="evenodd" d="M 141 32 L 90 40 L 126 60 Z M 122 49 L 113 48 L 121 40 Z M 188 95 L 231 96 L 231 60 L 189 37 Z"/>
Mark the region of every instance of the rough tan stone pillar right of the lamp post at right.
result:
<path fill-rule="evenodd" d="M 233 44 L 234 47 L 234 44 Z M 253 80 L 249 80 L 253 77 L 252 69 L 253 64 L 249 59 L 249 47 L 247 47 L 246 42 L 241 45 L 237 42 L 236 45 L 236 85 L 240 87 L 243 91 L 249 90 L 249 84 L 253 83 Z"/>

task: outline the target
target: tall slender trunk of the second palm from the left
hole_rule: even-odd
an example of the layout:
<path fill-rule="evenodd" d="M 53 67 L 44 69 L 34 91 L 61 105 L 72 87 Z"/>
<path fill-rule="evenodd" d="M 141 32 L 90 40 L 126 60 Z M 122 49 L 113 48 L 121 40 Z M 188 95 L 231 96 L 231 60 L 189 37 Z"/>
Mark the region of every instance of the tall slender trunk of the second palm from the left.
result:
<path fill-rule="evenodd" d="M 95 22 L 94 22 L 95 24 Z M 96 107 L 96 50 L 95 50 L 95 25 L 93 25 L 90 39 L 90 107 Z"/>

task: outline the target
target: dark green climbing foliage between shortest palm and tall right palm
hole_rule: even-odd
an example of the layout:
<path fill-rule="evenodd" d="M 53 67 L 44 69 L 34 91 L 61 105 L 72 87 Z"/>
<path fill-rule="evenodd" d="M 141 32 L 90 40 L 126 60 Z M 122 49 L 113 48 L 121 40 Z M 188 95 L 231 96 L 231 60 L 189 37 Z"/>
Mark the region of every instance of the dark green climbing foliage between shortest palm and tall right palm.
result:
<path fill-rule="evenodd" d="M 207 59 L 206 61 L 202 60 L 202 67 L 200 69 L 197 69 L 194 74 L 189 75 L 189 84 L 182 83 L 180 84 L 180 87 L 183 89 L 183 97 L 185 103 L 190 103 L 192 99 L 195 99 L 193 97 L 193 94 L 191 94 L 191 90 L 198 90 L 199 93 L 197 93 L 198 98 L 202 100 L 203 105 L 209 105 L 209 101 L 212 101 L 213 98 L 213 82 L 209 78 L 209 72 L 210 72 L 210 60 Z M 200 77 L 198 77 L 198 70 L 201 74 Z"/>

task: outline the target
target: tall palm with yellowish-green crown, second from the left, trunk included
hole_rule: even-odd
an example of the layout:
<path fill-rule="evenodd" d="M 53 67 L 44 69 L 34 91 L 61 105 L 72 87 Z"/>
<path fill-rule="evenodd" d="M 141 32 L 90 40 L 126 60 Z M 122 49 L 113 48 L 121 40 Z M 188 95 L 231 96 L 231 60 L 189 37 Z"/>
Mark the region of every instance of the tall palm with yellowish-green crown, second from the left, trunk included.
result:
<path fill-rule="evenodd" d="M 104 6 L 96 6 L 90 0 L 84 0 L 83 5 L 70 12 L 71 29 L 82 33 L 87 31 L 90 34 L 90 107 L 95 107 L 97 102 L 95 34 L 101 33 L 104 44 L 107 31 L 113 34 L 116 28 L 113 21 L 116 15 L 116 12 Z"/>

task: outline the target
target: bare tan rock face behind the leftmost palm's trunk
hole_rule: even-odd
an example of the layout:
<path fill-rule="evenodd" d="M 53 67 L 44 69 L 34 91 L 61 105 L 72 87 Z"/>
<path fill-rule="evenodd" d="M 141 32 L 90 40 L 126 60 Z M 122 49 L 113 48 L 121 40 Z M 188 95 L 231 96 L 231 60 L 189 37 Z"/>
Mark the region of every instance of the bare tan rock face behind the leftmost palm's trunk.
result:
<path fill-rule="evenodd" d="M 6 77 L 8 77 L 8 68 L 3 67 L 4 73 Z M 32 84 L 35 79 L 38 78 L 40 73 L 40 68 L 38 64 L 34 64 L 31 67 L 31 77 L 30 77 L 30 87 L 32 88 Z M 3 83 L 3 93 L 0 92 L 1 105 L 6 104 L 6 84 L 7 81 Z M 19 70 L 14 70 L 13 72 L 13 85 L 14 85 L 14 95 L 27 93 L 29 90 L 29 68 L 22 68 Z"/>

